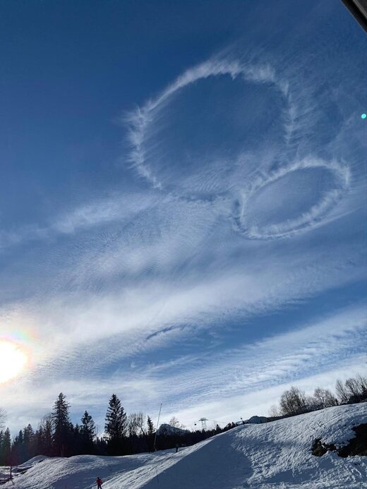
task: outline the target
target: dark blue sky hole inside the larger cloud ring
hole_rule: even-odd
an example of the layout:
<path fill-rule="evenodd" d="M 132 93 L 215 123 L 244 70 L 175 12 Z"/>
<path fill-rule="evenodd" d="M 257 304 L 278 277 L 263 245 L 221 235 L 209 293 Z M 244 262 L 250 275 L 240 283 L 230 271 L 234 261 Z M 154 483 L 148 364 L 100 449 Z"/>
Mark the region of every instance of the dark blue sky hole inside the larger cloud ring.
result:
<path fill-rule="evenodd" d="M 265 143 L 273 151 L 281 147 L 286 109 L 274 85 L 229 75 L 197 80 L 152 111 L 145 165 L 162 188 L 180 195 L 222 193 L 231 186 L 243 151 L 259 152 Z"/>

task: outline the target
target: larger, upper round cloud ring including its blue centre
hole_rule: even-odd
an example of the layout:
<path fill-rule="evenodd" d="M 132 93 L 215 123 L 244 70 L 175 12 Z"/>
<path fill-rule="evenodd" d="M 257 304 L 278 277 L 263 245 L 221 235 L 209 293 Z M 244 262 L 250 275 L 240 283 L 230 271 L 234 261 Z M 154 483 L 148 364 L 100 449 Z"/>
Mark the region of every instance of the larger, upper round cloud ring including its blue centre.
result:
<path fill-rule="evenodd" d="M 192 198 L 226 193 L 246 158 L 279 152 L 289 127 L 286 85 L 269 66 L 208 61 L 129 118 L 131 162 L 156 188 Z M 246 160 L 246 162 L 245 162 Z"/>

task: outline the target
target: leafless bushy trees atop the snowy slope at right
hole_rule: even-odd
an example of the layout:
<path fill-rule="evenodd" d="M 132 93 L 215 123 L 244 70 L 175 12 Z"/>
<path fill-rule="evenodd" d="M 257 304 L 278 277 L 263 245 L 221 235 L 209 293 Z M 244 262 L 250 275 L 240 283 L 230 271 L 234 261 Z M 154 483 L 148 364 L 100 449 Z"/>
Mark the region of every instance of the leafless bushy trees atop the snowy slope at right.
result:
<path fill-rule="evenodd" d="M 313 395 L 307 395 L 299 387 L 291 387 L 283 392 L 279 404 L 272 406 L 270 416 L 279 418 L 281 416 L 296 416 L 341 404 L 355 404 L 367 402 L 367 377 L 356 375 L 342 382 L 337 380 L 335 393 L 329 389 L 316 387 Z"/>

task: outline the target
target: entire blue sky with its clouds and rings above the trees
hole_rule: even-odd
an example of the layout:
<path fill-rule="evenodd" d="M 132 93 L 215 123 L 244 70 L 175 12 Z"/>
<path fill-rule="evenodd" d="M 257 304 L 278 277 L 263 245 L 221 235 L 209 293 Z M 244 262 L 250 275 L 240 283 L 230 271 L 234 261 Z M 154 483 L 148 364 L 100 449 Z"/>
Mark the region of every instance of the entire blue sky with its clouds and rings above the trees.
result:
<path fill-rule="evenodd" d="M 266 414 L 365 368 L 367 37 L 339 1 L 0 16 L 8 424 Z M 27 399 L 25 404 L 24 399 Z"/>

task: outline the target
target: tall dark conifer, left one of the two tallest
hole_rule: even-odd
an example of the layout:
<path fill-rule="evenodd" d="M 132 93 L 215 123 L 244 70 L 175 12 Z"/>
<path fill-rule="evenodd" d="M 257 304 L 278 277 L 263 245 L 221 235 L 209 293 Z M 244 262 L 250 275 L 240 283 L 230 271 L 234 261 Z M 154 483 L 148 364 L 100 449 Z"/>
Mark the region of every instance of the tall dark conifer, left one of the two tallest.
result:
<path fill-rule="evenodd" d="M 52 411 L 52 423 L 54 434 L 52 437 L 54 454 L 68 457 L 70 454 L 70 442 L 72 425 L 69 419 L 70 405 L 66 402 L 66 396 L 60 392 Z"/>

